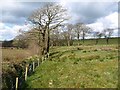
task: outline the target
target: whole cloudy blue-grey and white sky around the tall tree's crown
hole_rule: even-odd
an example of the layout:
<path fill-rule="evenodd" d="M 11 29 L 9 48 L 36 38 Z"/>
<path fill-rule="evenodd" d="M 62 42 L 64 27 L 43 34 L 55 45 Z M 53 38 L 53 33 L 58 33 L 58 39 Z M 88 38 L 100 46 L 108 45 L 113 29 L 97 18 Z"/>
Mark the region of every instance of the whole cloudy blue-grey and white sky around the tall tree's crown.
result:
<path fill-rule="evenodd" d="M 44 0 L 2 0 L 0 3 L 0 40 L 12 40 L 20 30 L 27 31 L 30 24 L 27 18 L 37 8 L 43 6 Z M 83 22 L 93 31 L 115 28 L 112 36 L 118 36 L 118 1 L 113 0 L 54 0 L 68 9 L 71 16 L 69 23 Z"/>

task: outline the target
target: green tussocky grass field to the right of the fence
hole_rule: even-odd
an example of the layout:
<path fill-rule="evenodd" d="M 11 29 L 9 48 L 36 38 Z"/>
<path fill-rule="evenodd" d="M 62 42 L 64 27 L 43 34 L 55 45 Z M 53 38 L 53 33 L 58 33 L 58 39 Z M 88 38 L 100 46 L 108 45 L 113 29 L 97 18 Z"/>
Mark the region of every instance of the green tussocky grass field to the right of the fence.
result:
<path fill-rule="evenodd" d="M 27 88 L 116 88 L 117 45 L 51 48 L 50 58 L 28 77 Z"/>

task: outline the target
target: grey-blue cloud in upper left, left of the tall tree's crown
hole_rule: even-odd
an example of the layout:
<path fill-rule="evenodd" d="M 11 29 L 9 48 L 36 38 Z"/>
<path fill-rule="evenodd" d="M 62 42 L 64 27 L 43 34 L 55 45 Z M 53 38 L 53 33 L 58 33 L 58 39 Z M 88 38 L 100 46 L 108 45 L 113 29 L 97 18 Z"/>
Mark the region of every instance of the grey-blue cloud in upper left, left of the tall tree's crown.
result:
<path fill-rule="evenodd" d="M 42 2 L 9 2 L 2 5 L 3 23 L 23 24 L 33 10 L 39 8 Z"/>

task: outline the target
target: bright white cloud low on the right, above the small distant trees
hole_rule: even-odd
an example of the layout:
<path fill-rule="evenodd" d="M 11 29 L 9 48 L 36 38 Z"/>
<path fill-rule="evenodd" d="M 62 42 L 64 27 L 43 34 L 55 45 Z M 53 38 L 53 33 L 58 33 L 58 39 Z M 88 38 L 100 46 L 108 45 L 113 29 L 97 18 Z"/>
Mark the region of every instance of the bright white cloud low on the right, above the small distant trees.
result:
<path fill-rule="evenodd" d="M 94 23 L 88 24 L 87 26 L 91 27 L 95 32 L 102 32 L 106 28 L 113 28 L 113 36 L 118 36 L 118 12 L 98 18 Z"/>

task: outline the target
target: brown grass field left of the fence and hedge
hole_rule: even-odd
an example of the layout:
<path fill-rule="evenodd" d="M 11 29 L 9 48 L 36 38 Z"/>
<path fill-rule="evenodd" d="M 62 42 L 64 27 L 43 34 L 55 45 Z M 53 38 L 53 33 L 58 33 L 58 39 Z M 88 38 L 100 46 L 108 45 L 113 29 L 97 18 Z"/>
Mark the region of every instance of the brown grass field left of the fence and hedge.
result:
<path fill-rule="evenodd" d="M 29 50 L 25 49 L 2 49 L 2 62 L 17 63 L 32 55 Z"/>

